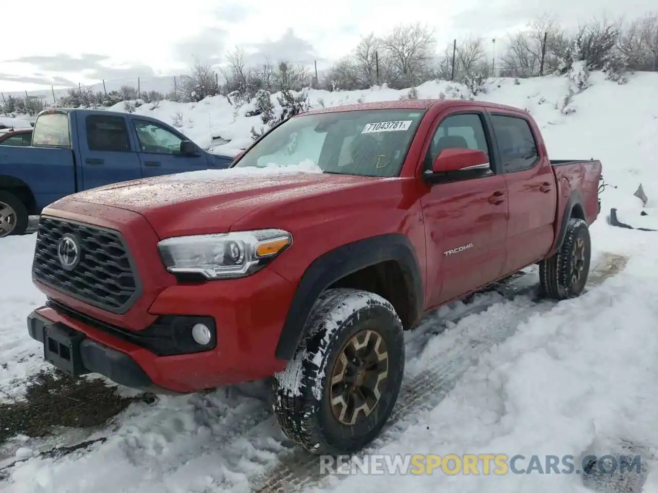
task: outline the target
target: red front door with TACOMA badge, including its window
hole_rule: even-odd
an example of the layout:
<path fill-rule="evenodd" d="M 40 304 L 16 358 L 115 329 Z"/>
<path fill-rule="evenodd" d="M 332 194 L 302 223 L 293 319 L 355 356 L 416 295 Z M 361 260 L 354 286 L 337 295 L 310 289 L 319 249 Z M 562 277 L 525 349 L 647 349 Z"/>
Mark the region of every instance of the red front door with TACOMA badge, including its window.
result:
<path fill-rule="evenodd" d="M 490 156 L 490 170 L 474 176 L 456 172 L 432 185 L 421 199 L 426 231 L 428 303 L 437 306 L 495 281 L 505 264 L 507 187 L 493 166 L 490 135 L 482 108 L 453 110 L 440 117 L 424 158 L 431 170 L 443 149 L 479 149 Z M 466 175 L 468 173 L 468 175 Z"/>

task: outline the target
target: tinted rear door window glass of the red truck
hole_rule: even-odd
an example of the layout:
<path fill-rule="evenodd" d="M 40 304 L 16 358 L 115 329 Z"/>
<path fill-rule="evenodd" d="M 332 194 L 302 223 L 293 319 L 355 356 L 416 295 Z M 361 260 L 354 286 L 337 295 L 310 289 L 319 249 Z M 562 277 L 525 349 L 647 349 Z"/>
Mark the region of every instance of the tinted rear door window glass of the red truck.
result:
<path fill-rule="evenodd" d="M 497 114 L 492 114 L 491 118 L 505 173 L 532 168 L 539 159 L 539 153 L 528 121 Z"/>

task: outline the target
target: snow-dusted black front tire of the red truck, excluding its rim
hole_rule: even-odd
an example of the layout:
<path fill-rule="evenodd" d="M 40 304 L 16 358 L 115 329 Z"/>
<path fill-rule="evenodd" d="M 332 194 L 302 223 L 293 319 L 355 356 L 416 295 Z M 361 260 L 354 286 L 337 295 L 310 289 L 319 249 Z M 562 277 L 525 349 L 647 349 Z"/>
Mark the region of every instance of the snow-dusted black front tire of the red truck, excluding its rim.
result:
<path fill-rule="evenodd" d="M 380 433 L 397 400 L 405 364 L 402 323 L 392 304 L 378 294 L 328 289 L 316 300 L 304 334 L 286 369 L 272 379 L 274 415 L 284 434 L 311 454 L 357 452 Z M 340 421 L 343 413 L 336 417 L 331 404 L 331 392 L 343 387 L 332 387 L 330 381 L 332 373 L 345 361 L 341 359 L 345 348 L 361 335 L 364 339 L 359 344 L 370 339 L 370 335 L 378 335 L 378 339 L 372 339 L 377 341 L 376 348 L 386 348 L 386 377 L 376 379 L 378 392 L 374 394 L 380 397 L 369 413 L 352 412 L 350 415 L 357 415 L 360 421 L 345 425 Z M 380 354 L 380 349 L 371 354 L 382 362 L 384 354 Z M 384 375 L 384 371 L 379 375 Z M 348 409 L 344 401 L 342 406 Z M 336 410 L 336 404 L 333 408 Z"/>

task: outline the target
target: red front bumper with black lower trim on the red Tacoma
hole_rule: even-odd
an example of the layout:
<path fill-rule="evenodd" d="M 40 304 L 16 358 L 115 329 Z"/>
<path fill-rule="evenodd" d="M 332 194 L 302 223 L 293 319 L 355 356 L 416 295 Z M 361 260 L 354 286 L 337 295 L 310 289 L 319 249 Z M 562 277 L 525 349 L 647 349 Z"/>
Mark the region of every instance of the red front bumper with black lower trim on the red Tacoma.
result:
<path fill-rule="evenodd" d="M 32 312 L 28 331 L 43 344 L 46 360 L 71 375 L 100 373 L 126 387 L 154 393 L 199 392 L 264 379 L 286 367 L 274 354 L 294 292 L 293 284 L 271 270 L 165 289 L 149 308 L 154 319 L 202 313 L 215 320 L 216 346 L 200 352 L 157 354 L 157 348 L 145 343 L 147 334 L 153 334 L 148 328 L 120 330 L 60 300 Z M 55 339 L 56 344 L 58 337 L 71 346 L 66 361 L 53 356 L 54 346 L 48 347 L 48 340 Z"/>

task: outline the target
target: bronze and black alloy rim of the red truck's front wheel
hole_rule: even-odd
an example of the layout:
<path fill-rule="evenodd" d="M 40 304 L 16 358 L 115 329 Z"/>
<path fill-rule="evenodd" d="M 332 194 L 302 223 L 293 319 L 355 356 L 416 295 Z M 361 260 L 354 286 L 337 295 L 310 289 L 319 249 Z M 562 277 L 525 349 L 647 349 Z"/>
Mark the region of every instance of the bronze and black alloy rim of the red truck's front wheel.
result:
<path fill-rule="evenodd" d="M 328 386 L 331 410 L 345 426 L 360 423 L 377 406 L 388 377 L 386 341 L 372 329 L 353 335 L 343 346 Z"/>

